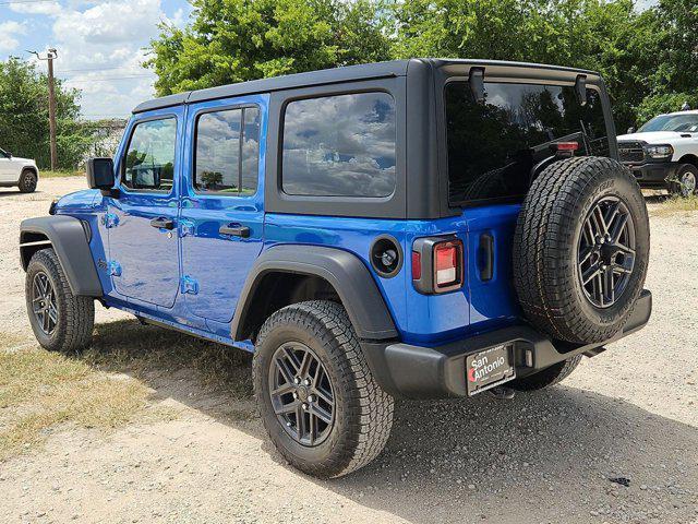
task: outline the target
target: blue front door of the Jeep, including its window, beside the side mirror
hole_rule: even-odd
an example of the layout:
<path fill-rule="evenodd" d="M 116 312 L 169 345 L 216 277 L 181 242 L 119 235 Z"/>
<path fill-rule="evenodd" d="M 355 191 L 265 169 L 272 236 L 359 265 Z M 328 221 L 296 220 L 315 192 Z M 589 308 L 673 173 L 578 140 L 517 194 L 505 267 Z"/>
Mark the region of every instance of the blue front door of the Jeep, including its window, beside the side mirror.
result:
<path fill-rule="evenodd" d="M 119 195 L 105 216 L 116 291 L 171 308 L 179 290 L 177 219 L 183 108 L 131 123 L 117 169 Z"/>

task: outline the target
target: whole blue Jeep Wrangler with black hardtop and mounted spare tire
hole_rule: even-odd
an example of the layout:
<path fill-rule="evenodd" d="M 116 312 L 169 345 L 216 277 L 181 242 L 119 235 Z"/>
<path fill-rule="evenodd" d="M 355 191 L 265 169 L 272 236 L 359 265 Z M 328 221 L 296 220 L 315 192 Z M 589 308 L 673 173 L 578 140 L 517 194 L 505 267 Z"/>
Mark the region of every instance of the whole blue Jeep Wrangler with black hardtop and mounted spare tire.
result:
<path fill-rule="evenodd" d="M 507 397 L 642 327 L 647 209 L 599 74 L 405 60 L 146 102 L 21 226 L 39 343 L 94 301 L 254 353 L 280 453 L 372 461 L 394 397 Z"/>

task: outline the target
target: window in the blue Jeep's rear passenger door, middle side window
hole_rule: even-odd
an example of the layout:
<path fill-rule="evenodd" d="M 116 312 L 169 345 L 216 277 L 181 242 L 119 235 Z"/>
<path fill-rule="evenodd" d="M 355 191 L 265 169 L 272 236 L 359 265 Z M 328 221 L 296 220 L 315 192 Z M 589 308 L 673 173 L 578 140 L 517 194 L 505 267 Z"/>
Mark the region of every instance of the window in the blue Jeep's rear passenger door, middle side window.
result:
<path fill-rule="evenodd" d="M 196 191 L 254 194 L 258 158 L 258 108 L 226 109 L 198 117 L 193 180 Z"/>

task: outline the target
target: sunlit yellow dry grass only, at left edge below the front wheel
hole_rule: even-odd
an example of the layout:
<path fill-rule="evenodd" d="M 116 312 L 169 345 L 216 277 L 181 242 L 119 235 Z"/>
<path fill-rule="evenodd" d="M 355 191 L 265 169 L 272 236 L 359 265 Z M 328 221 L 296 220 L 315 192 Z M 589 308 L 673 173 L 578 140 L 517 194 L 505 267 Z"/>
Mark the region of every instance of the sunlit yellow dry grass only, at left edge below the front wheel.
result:
<path fill-rule="evenodd" d="M 3 335 L 4 336 L 4 335 Z M 37 346 L 0 349 L 0 461 L 44 442 L 58 425 L 113 429 L 141 416 L 149 390 Z"/>

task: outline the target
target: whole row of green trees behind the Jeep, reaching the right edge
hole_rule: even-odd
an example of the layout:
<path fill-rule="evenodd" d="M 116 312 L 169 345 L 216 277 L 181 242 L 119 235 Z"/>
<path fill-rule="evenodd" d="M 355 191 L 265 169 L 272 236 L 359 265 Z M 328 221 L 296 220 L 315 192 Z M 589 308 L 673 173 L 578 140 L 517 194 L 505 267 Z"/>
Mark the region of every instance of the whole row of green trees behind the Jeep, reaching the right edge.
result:
<path fill-rule="evenodd" d="M 393 58 L 514 60 L 599 71 L 616 127 L 698 93 L 698 3 L 660 0 L 193 0 L 161 26 L 160 95 Z M 681 99 L 681 103 L 677 100 Z"/>

